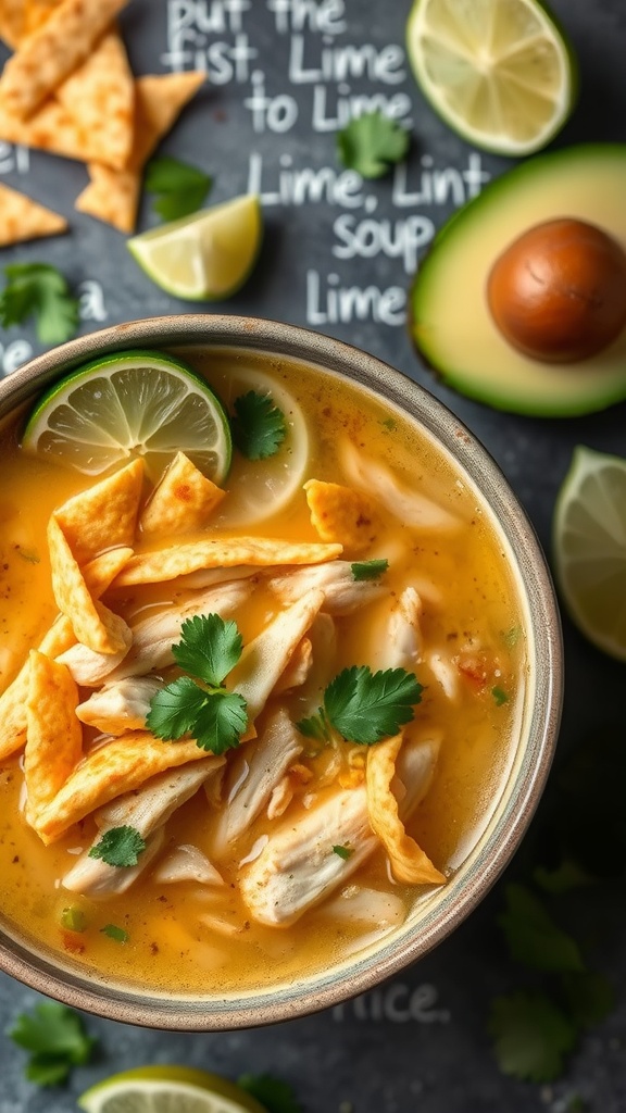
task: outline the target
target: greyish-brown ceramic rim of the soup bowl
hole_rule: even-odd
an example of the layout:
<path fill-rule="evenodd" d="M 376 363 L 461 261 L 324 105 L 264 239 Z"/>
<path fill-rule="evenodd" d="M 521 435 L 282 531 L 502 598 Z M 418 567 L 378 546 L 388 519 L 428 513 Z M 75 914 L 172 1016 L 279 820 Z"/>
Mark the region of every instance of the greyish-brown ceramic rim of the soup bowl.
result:
<path fill-rule="evenodd" d="M 381 953 L 368 953 L 355 964 L 350 961 L 339 964 L 334 967 L 334 981 L 315 975 L 286 996 L 283 994 L 283 998 L 281 986 L 278 991 L 270 988 L 246 997 L 233 995 L 216 1003 L 215 998 L 195 995 L 150 997 L 133 987 L 123 991 L 107 985 L 105 979 L 96 983 L 89 971 L 82 974 L 59 971 L 46 953 L 0 929 L 0 969 L 31 988 L 110 1020 L 196 1032 L 253 1027 L 332 1007 L 368 992 L 442 942 L 486 896 L 530 823 L 556 748 L 564 688 L 558 605 L 545 554 L 526 511 L 499 465 L 463 422 L 424 386 L 374 355 L 325 334 L 265 318 L 216 314 L 144 318 L 88 333 L 29 361 L 0 381 L 0 417 L 32 398 L 36 390 L 58 375 L 99 355 L 131 348 L 176 349 L 200 345 L 261 352 L 320 365 L 373 390 L 422 423 L 467 472 L 497 519 L 517 560 L 516 579 L 529 617 L 540 621 L 532 628 L 534 703 L 524 760 L 515 775 L 516 798 L 512 799 L 512 774 L 509 774 L 506 788 L 501 789 L 507 815 L 500 816 L 499 823 L 493 817 L 489 820 L 480 871 L 470 877 L 469 884 L 463 884 L 453 907 L 444 907 L 430 917 L 426 929 L 420 924 L 413 937 L 399 947 L 390 944 L 389 954 L 383 946 Z M 470 858 L 473 855 L 472 849 Z M 344 966 L 349 967 L 348 973 L 336 977 Z"/>

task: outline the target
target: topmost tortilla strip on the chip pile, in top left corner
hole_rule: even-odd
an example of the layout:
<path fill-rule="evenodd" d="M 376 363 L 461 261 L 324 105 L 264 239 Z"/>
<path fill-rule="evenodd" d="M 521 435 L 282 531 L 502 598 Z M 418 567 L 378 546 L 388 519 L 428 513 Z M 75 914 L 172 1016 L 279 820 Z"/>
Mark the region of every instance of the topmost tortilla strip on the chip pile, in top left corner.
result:
<path fill-rule="evenodd" d="M 25 120 L 92 50 L 128 0 L 62 0 L 4 66 L 0 98 Z"/>

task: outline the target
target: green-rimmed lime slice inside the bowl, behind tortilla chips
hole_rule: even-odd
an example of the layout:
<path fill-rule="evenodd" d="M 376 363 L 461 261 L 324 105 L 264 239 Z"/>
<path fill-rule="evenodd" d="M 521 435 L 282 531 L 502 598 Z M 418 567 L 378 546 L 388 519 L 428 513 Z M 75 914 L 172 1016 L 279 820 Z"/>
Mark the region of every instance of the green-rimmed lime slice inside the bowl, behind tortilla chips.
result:
<path fill-rule="evenodd" d="M 159 352 L 121 352 L 71 372 L 39 400 L 22 449 L 87 475 L 144 456 L 153 477 L 185 452 L 221 483 L 231 464 L 224 407 L 204 378 Z"/>

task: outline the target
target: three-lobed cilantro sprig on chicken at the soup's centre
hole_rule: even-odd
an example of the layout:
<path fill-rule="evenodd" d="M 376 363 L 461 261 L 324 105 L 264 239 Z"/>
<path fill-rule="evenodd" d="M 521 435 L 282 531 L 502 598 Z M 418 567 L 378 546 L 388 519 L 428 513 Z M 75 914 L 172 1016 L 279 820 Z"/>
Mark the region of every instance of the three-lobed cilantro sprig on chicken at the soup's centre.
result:
<path fill-rule="evenodd" d="M 180 628 L 174 660 L 192 676 L 179 677 L 150 700 L 148 730 L 165 741 L 192 735 L 203 750 L 224 754 L 238 746 L 247 727 L 246 701 L 224 680 L 242 656 L 236 622 L 219 614 L 196 614 Z M 195 677 L 197 679 L 192 679 Z"/>

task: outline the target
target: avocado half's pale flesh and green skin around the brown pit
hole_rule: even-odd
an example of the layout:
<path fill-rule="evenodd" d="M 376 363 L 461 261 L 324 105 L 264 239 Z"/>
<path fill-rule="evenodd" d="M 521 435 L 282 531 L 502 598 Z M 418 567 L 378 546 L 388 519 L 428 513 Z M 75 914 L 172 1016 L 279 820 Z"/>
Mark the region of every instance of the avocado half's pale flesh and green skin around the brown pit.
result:
<path fill-rule="evenodd" d="M 574 217 L 626 252 L 626 145 L 586 144 L 540 155 L 491 181 L 441 228 L 411 292 L 411 334 L 443 382 L 497 410 L 571 417 L 626 398 L 626 329 L 570 364 L 531 359 L 507 343 L 487 304 L 503 249 L 544 220 Z"/>

